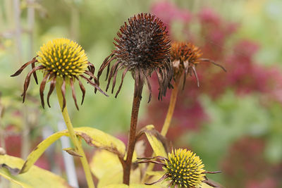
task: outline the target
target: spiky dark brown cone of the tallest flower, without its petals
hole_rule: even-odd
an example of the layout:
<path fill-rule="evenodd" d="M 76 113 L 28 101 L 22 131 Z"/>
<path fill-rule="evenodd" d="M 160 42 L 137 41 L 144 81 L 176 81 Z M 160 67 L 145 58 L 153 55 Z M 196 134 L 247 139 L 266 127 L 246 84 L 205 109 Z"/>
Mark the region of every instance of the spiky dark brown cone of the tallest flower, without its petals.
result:
<path fill-rule="evenodd" d="M 114 54 L 118 61 L 135 68 L 158 68 L 169 61 L 170 40 L 164 23 L 154 15 L 140 13 L 121 26 Z"/>

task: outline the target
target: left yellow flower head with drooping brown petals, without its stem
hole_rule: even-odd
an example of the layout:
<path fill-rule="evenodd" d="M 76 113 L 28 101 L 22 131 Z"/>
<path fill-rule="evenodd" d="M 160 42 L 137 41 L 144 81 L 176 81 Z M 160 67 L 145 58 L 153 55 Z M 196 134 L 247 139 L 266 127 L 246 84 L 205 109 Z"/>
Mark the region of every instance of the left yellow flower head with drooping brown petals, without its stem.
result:
<path fill-rule="evenodd" d="M 38 66 L 35 67 L 35 63 L 39 63 Z M 40 51 L 37 52 L 37 56 L 32 58 L 32 61 L 25 63 L 15 74 L 11 75 L 12 77 L 20 75 L 22 71 L 27 67 L 27 65 L 32 65 L 32 70 L 25 77 L 25 84 L 23 87 L 23 102 L 25 101 L 25 95 L 27 92 L 27 88 L 30 84 L 30 77 L 33 74 L 35 77 L 35 82 L 37 82 L 37 70 L 43 70 L 44 77 L 40 84 L 40 99 L 42 107 L 44 108 L 44 88 L 46 82 L 50 80 L 50 88 L 47 95 L 47 104 L 49 104 L 49 97 L 54 91 L 56 86 L 56 82 L 58 80 L 62 80 L 63 84 L 61 87 L 61 92 L 63 94 L 63 108 L 66 106 L 66 81 L 71 84 L 71 89 L 73 93 L 73 100 L 75 101 L 75 106 L 78 108 L 78 104 L 75 96 L 75 89 L 73 86 L 73 82 L 78 80 L 80 89 L 82 91 L 82 101 L 83 103 L 85 97 L 85 87 L 80 81 L 79 77 L 87 80 L 94 88 L 95 91 L 98 89 L 100 92 L 105 94 L 102 89 L 99 88 L 99 82 L 97 78 L 94 76 L 94 65 L 87 61 L 87 56 L 85 51 L 82 49 L 80 45 L 76 42 L 73 42 L 69 39 L 53 39 L 52 41 L 47 42 L 47 44 L 43 44 L 40 47 Z M 85 74 L 85 75 L 83 75 Z M 86 76 L 90 76 L 89 78 Z M 94 79 L 94 82 L 92 81 Z M 37 82 L 38 83 L 38 82 Z M 105 94 L 106 95 L 106 94 Z"/>

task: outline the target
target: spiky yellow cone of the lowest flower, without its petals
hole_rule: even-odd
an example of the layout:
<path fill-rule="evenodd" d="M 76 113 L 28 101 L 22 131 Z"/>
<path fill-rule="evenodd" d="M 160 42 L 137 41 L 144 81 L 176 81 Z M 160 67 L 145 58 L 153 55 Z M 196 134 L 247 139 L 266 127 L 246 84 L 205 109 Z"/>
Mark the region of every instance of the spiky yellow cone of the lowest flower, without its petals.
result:
<path fill-rule="evenodd" d="M 200 187 L 204 181 L 204 164 L 199 156 L 187 149 L 177 149 L 168 153 L 164 170 L 167 179 L 180 187 Z"/>

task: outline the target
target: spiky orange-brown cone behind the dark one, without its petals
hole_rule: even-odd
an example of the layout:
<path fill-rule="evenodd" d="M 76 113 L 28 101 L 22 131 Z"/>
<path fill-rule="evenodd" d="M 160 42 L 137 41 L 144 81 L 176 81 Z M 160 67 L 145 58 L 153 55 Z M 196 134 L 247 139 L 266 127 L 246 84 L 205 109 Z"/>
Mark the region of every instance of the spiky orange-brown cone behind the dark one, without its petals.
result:
<path fill-rule="evenodd" d="M 183 73 L 183 70 L 190 65 L 200 63 L 201 50 L 189 42 L 172 42 L 171 61 L 173 63 L 174 75 Z"/>

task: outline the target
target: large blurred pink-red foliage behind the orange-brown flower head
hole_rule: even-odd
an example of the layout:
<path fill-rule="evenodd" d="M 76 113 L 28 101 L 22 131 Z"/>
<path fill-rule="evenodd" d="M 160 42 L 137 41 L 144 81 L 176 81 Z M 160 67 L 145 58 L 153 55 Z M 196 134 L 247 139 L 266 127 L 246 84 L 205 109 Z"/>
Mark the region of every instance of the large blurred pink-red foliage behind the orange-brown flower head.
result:
<path fill-rule="evenodd" d="M 178 8 L 167 1 L 154 4 L 152 13 L 168 23 L 168 29 L 171 28 L 173 21 L 180 18 L 184 25 L 192 22 L 200 24 L 199 33 L 193 34 L 189 29 L 185 29 L 183 31 L 184 38 L 189 38 L 191 39 L 189 42 L 200 46 L 204 58 L 221 63 L 227 70 L 225 73 L 212 63 L 203 62 L 197 67 L 200 87 L 197 87 L 195 77 L 187 78 L 189 81 L 186 82 L 185 89 L 178 93 L 168 139 L 176 139 L 185 130 L 197 130 L 204 121 L 209 119 L 199 99 L 201 94 L 218 99 L 226 90 L 233 89 L 238 94 L 258 92 L 264 94 L 266 98 L 281 101 L 282 82 L 278 81 L 282 80 L 282 74 L 275 67 L 266 67 L 255 62 L 254 56 L 259 49 L 258 44 L 249 39 L 239 39 L 226 47 L 227 43 L 232 41 L 232 37 L 239 27 L 237 23 L 223 20 L 210 8 L 204 8 L 200 13 L 193 15 L 188 10 Z M 169 13 L 172 15 L 170 16 Z M 183 13 L 189 16 L 179 16 Z M 173 35 L 171 36 L 173 40 Z M 157 80 L 154 84 L 157 84 Z M 152 88 L 154 88 L 153 94 L 156 96 L 158 91 L 155 89 L 156 87 Z M 152 104 L 148 108 L 149 123 L 153 123 L 158 130 L 161 130 L 164 123 L 170 92 L 167 92 L 163 102 L 157 101 L 157 97 L 152 97 Z"/>

